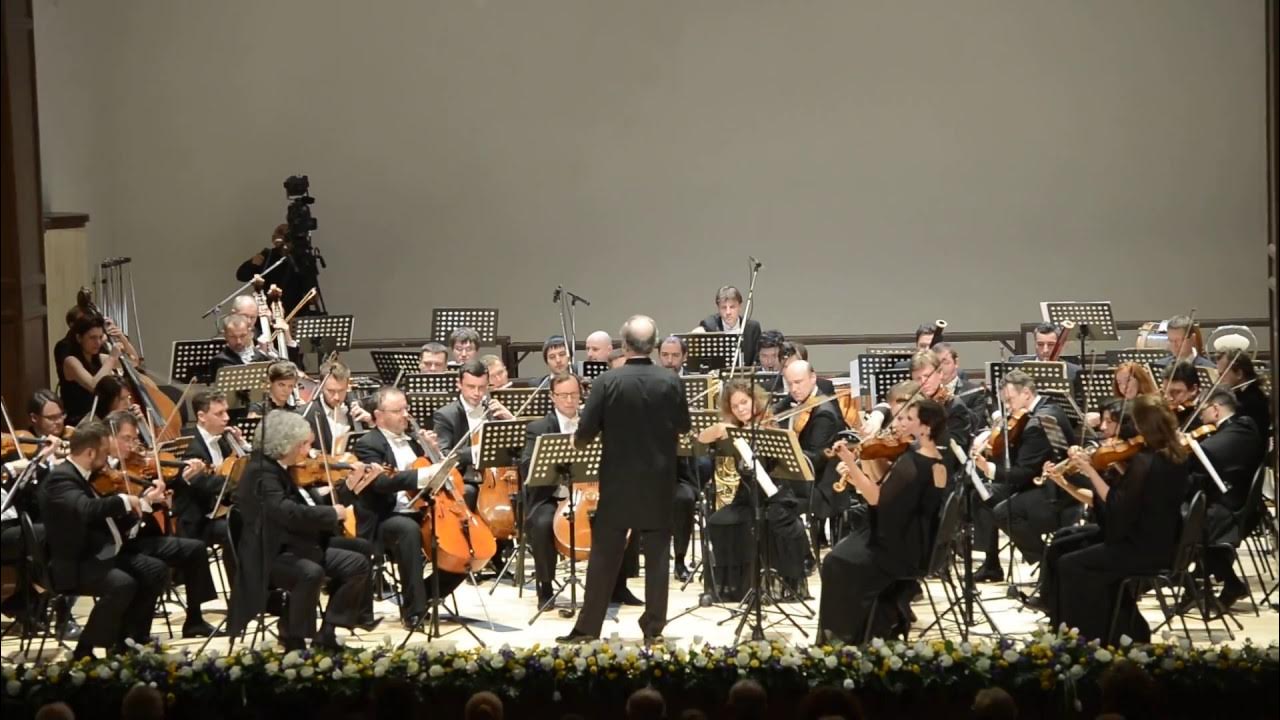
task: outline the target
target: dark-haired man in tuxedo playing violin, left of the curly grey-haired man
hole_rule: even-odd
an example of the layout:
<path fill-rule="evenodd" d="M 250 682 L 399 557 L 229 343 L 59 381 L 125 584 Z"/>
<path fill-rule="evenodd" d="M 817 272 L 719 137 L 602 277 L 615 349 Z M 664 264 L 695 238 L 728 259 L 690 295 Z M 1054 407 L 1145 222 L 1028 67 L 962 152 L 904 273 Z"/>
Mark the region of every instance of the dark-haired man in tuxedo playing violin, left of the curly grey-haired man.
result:
<path fill-rule="evenodd" d="M 156 598 L 169 568 L 128 547 L 129 528 L 151 502 L 164 498 L 164 483 L 142 495 L 102 497 L 90 484 L 106 468 L 111 430 L 99 420 L 82 424 L 70 439 L 70 456 L 56 465 L 40 488 L 40 509 L 50 543 L 49 571 L 54 589 L 96 596 L 74 657 L 95 647 L 123 652 L 124 641 L 148 642 Z"/>

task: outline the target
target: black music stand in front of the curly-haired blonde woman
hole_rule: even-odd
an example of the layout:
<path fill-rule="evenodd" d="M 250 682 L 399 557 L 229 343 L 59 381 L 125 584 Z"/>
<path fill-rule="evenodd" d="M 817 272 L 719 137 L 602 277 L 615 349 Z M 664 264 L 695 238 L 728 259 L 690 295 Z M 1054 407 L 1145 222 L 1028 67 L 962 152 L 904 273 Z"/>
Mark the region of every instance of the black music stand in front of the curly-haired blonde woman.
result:
<path fill-rule="evenodd" d="M 723 625 L 735 618 L 741 618 L 737 624 L 737 629 L 733 630 L 735 638 L 741 637 L 742 628 L 745 628 L 750 621 L 751 639 L 764 639 L 764 605 L 768 602 L 773 606 L 771 612 L 778 612 L 782 615 L 781 619 L 773 623 L 774 625 L 782 623 L 783 620 L 790 621 L 791 625 L 800 632 L 801 637 L 808 638 L 809 634 L 800 626 L 800 623 L 797 623 L 796 619 L 782 607 L 780 598 L 773 597 L 773 592 L 771 589 L 772 585 L 767 579 L 767 575 L 776 571 L 771 568 L 768 553 L 769 543 L 767 539 L 768 525 L 764 515 L 764 488 L 758 482 L 756 473 L 763 470 L 763 465 L 760 462 L 762 459 L 773 460 L 776 465 L 773 470 L 768 473 L 771 478 L 804 480 L 812 483 L 813 468 L 809 465 L 809 460 L 804 456 L 804 451 L 800 448 L 799 438 L 791 430 L 760 428 L 755 424 L 746 428 L 730 427 L 727 428 L 727 439 L 737 450 L 739 459 L 742 459 L 744 447 L 754 455 L 754 462 L 749 464 L 751 468 L 749 470 L 749 482 L 751 483 L 751 503 L 755 514 L 756 566 L 755 574 L 751 578 L 751 589 L 739 603 L 737 609 L 718 624 Z M 809 605 L 803 600 L 799 602 L 809 614 L 806 619 L 813 619 L 813 609 L 809 607 Z"/>

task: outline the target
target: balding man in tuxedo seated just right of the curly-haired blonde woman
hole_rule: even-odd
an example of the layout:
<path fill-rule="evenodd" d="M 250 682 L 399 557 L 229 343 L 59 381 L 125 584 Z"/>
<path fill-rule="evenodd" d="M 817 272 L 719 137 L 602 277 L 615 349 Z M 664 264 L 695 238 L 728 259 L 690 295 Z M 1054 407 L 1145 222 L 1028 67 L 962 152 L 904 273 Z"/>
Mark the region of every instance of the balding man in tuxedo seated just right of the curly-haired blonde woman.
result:
<path fill-rule="evenodd" d="M 782 377 L 787 383 L 787 396 L 774 405 L 774 414 L 786 413 L 796 405 L 822 395 L 818 391 L 818 373 L 813 370 L 813 365 L 808 360 L 791 360 L 782 370 Z M 800 450 L 804 451 L 809 466 L 813 468 L 813 483 L 790 482 L 796 496 L 803 501 L 801 507 L 808 506 L 809 512 L 813 514 L 814 523 L 809 532 L 814 548 L 817 548 L 827 542 L 823 523 L 840 514 L 844 505 L 847 503 L 847 493 L 841 493 L 844 497 L 836 497 L 836 491 L 832 488 L 836 480 L 835 473 L 827 473 L 828 462 L 823 452 L 835 445 L 836 436 L 845 429 L 845 421 L 840 416 L 838 404 L 831 401 L 823 402 L 808 413 L 792 415 L 785 420 L 785 425 L 796 433 Z M 832 469 L 835 469 L 833 464 Z M 810 484 L 817 487 L 810 488 Z"/>

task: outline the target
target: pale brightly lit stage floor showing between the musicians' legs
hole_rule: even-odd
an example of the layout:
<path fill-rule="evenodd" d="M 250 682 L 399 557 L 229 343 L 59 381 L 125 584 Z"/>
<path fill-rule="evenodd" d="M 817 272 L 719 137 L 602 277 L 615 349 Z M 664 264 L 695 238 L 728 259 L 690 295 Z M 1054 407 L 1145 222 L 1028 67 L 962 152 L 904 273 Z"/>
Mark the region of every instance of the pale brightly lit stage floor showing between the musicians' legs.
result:
<path fill-rule="evenodd" d="M 1271 559 L 1272 566 L 1275 566 L 1275 557 Z M 562 569 L 567 573 L 567 562 L 562 562 Z M 1261 598 L 1266 588 L 1272 587 L 1274 582 L 1270 577 L 1263 577 L 1262 579 L 1253 575 L 1253 564 L 1244 557 L 1244 568 L 1248 573 L 1248 579 L 1254 593 L 1254 598 L 1260 601 L 1258 614 L 1253 611 L 1253 606 L 1248 600 L 1238 602 L 1234 607 L 1236 619 L 1243 625 L 1243 629 L 1235 629 L 1234 641 L 1228 638 L 1228 633 L 1222 626 L 1221 621 L 1211 623 L 1212 634 L 1206 633 L 1204 625 L 1197 619 L 1192 621 L 1188 618 L 1187 624 L 1192 632 L 1192 639 L 1196 644 L 1207 643 L 1231 643 L 1235 646 L 1243 644 L 1245 639 L 1251 639 L 1254 644 L 1266 646 L 1267 643 L 1280 638 L 1280 629 L 1277 629 L 1276 623 L 1276 610 L 1271 606 L 1262 606 Z M 532 568 L 530 565 L 530 573 Z M 579 565 L 579 571 L 584 571 L 585 566 Z M 1014 580 L 1030 582 L 1032 578 L 1027 575 L 1028 568 L 1020 565 L 1015 570 Z M 220 582 L 215 578 L 215 582 Z M 630 587 L 637 596 L 644 594 L 644 580 L 643 578 L 634 578 L 630 580 Z M 671 619 L 666 638 L 671 643 L 677 644 L 690 644 L 690 643 L 713 643 L 713 644 L 733 644 L 740 639 L 750 639 L 750 626 L 744 629 L 744 634 L 736 634 L 740 621 L 739 618 L 731 619 L 731 610 L 735 606 L 712 606 L 712 607 L 699 607 L 699 583 L 690 583 L 687 588 L 681 588 L 682 583 L 672 580 L 671 594 L 669 594 L 669 612 Z M 530 585 L 531 587 L 531 585 Z M 1021 603 L 1009 600 L 1007 591 L 1009 583 L 998 584 L 980 584 L 978 585 L 982 597 L 982 605 L 986 607 L 987 612 L 995 624 L 995 628 L 1005 635 L 1012 635 L 1019 638 L 1029 637 L 1029 634 L 1037 628 L 1038 623 L 1044 623 L 1044 616 L 1039 612 L 1027 610 Z M 938 582 L 931 582 L 929 589 L 933 592 L 934 601 L 938 602 L 938 609 L 945 607 L 945 596 L 942 585 Z M 1023 589 L 1028 589 L 1025 585 Z M 777 612 L 773 607 L 765 607 L 764 612 L 764 625 L 765 637 L 783 639 L 794 643 L 812 643 L 814 639 L 814 632 L 817 625 L 817 611 L 818 602 L 817 598 L 820 597 L 822 587 L 815 571 L 809 578 L 809 592 L 815 600 L 808 602 L 808 607 L 800 603 L 783 605 L 782 609 L 787 611 L 788 616 L 783 616 Z M 467 619 L 467 626 L 475 633 L 475 637 L 468 634 L 462 629 L 460 623 L 451 618 L 451 614 L 442 612 L 440 630 L 444 633 L 447 642 L 456 643 L 460 648 L 474 647 L 477 642 L 484 642 L 490 647 L 500 647 L 503 644 L 509 644 L 513 647 L 530 647 L 534 644 L 553 644 L 557 635 L 563 635 L 572 628 L 573 620 L 561 618 L 556 611 L 544 612 L 536 621 L 530 624 L 534 614 L 536 612 L 535 601 L 531 591 L 526 589 L 524 597 L 517 596 L 516 587 L 509 580 L 504 580 L 500 584 L 494 585 L 493 580 L 483 580 L 477 587 L 465 584 L 457 589 L 454 593 L 457 606 L 462 615 Z M 1275 593 L 1272 593 L 1272 600 Z M 83 624 L 88 610 L 91 609 L 91 600 L 81 598 L 76 606 L 76 615 Z M 581 602 L 581 594 L 579 596 L 579 602 Z M 564 594 L 558 603 L 559 607 L 568 606 L 568 596 Z M 1160 607 L 1155 600 L 1153 594 L 1148 593 L 1148 597 L 1143 600 L 1140 605 L 1143 614 L 1155 626 L 1160 621 Z M 170 609 L 170 623 L 175 633 L 180 632 L 183 611 L 180 605 L 169 603 Z M 927 600 L 916 601 L 913 605 L 919 620 L 913 629 L 911 638 L 914 639 L 920 628 L 924 628 L 933 620 L 933 612 L 929 609 L 929 602 Z M 225 610 L 225 603 L 221 598 L 211 601 L 205 605 L 205 616 L 211 623 L 218 623 L 221 620 Z M 602 635 L 609 638 L 617 635 L 623 641 L 641 639 L 641 632 L 637 625 L 643 607 L 620 607 L 611 606 L 608 618 L 605 619 Z M 384 618 L 381 625 L 374 632 L 356 632 L 353 634 L 347 634 L 339 632 L 339 638 L 349 647 L 374 647 L 383 643 L 399 643 L 407 632 L 401 626 L 398 618 L 398 607 L 389 600 L 379 600 L 375 602 L 375 612 Z M 1175 637 L 1181 637 L 1181 625 L 1175 620 L 1174 626 Z M 251 625 L 252 628 L 252 625 Z M 169 639 L 165 620 L 163 618 L 156 618 L 152 625 L 152 633 L 161 638 L 161 642 L 169 644 L 173 648 L 191 648 L 197 650 L 204 641 L 201 639 Z M 972 628 L 972 634 L 975 637 L 993 637 L 995 633 L 992 626 L 980 623 Z M 933 628 L 927 637 L 937 638 L 940 637 L 940 630 Z M 947 629 L 947 638 L 959 639 L 954 629 Z M 425 642 L 425 635 L 417 635 L 410 642 Z M 1158 639 L 1158 633 L 1157 633 Z M 37 641 L 38 644 L 38 641 Z M 210 643 L 210 648 L 216 648 L 218 651 L 225 651 L 228 647 L 228 641 L 224 638 L 214 639 Z M 3 641 L 3 653 L 6 662 L 20 661 L 22 656 L 18 653 L 19 642 L 13 634 L 6 634 Z M 35 651 L 32 651 L 35 655 Z M 65 648 L 59 648 L 56 643 L 50 642 L 46 644 L 44 659 L 52 660 L 60 656 L 69 656 L 69 651 Z"/>

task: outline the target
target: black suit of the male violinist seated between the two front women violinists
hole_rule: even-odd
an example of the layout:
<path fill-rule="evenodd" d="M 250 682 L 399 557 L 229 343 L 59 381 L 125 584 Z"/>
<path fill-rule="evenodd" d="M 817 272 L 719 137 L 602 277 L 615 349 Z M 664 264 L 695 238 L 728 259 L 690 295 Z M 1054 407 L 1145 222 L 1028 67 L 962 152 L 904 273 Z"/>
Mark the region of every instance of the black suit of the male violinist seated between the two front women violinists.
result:
<path fill-rule="evenodd" d="M 996 468 L 992 498 L 978 507 L 975 523 L 978 546 L 986 552 L 982 569 L 1000 571 L 997 530 L 1004 530 L 1028 562 L 1039 562 L 1044 553 L 1044 533 L 1052 533 L 1079 520 L 1080 503 L 1052 482 L 1037 487 L 1032 480 L 1043 474 L 1047 460 L 1061 460 L 1066 448 L 1056 448 L 1044 432 L 1046 423 L 1055 423 L 1062 432 L 1066 447 L 1075 445 L 1075 430 L 1061 407 L 1038 396 L 1021 434 L 1009 447 L 1010 466 L 1005 459 L 988 460 Z M 1079 482 L 1078 477 L 1068 478 Z M 995 510 L 991 510 L 991 507 Z"/>

